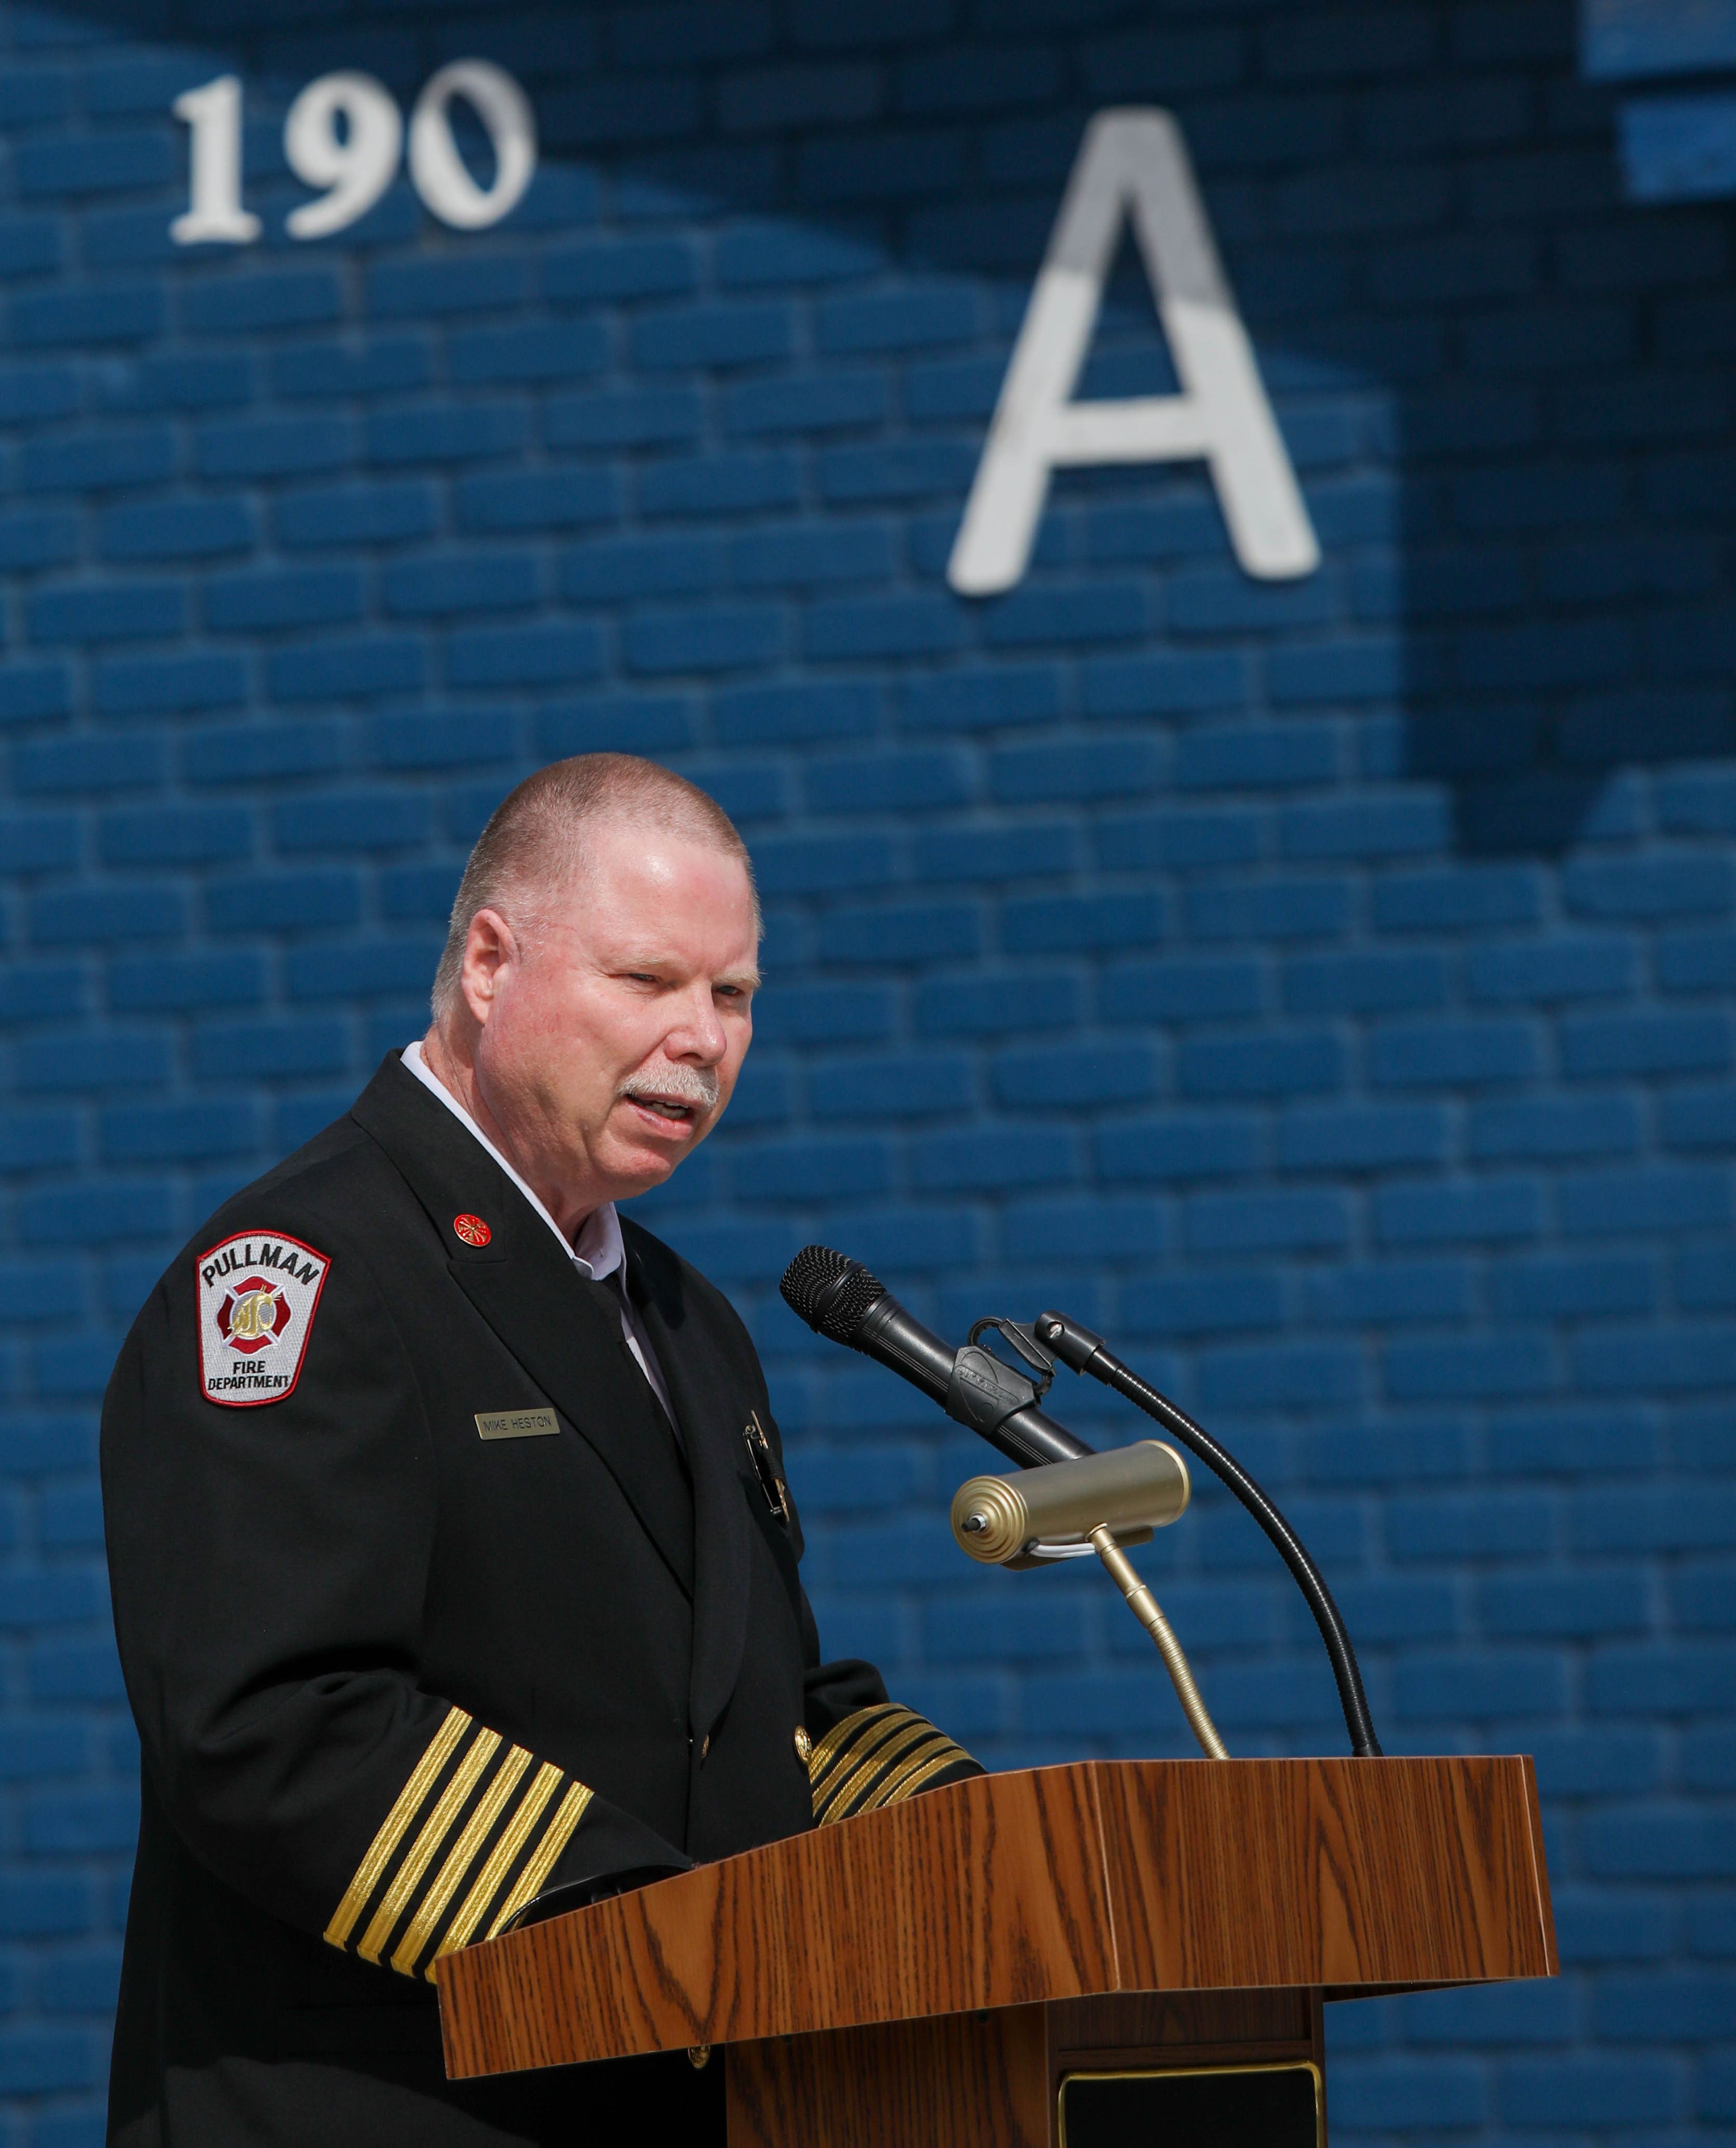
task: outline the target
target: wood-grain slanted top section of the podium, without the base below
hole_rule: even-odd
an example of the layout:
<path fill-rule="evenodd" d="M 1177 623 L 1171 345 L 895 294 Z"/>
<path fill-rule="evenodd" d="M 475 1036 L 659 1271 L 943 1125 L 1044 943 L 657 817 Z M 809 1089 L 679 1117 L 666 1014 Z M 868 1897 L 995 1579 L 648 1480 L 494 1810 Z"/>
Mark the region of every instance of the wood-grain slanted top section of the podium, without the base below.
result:
<path fill-rule="evenodd" d="M 1551 1976 L 1521 1757 L 988 1774 L 440 1963 L 451 2075 L 1106 1991 Z"/>

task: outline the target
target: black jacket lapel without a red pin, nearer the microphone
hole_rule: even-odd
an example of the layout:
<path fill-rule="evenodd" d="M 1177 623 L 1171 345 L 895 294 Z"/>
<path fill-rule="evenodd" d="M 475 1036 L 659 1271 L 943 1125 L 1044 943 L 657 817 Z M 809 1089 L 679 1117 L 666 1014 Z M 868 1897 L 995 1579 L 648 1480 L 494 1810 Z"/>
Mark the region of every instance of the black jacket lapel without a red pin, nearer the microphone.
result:
<path fill-rule="evenodd" d="M 621 1235 L 627 1244 L 634 1308 L 657 1353 L 694 1476 L 694 1669 L 688 1723 L 705 1738 L 718 1727 L 735 1693 L 748 1639 L 748 1446 L 735 1422 L 737 1407 L 746 1418 L 746 1405 L 690 1317 L 679 1263 L 625 1218 Z M 758 1486 L 754 1497 L 761 1497 Z"/>

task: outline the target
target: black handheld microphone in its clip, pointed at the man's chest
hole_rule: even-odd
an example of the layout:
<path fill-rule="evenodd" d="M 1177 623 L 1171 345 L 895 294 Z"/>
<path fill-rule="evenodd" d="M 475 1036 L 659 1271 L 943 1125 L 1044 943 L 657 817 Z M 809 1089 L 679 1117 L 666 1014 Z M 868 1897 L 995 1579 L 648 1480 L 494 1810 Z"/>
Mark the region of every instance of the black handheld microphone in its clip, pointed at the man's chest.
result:
<path fill-rule="evenodd" d="M 814 1334 L 892 1366 L 1021 1469 L 1094 1452 L 1036 1407 L 1036 1381 L 975 1345 L 947 1349 L 859 1261 L 829 1246 L 804 1246 L 778 1289 Z"/>

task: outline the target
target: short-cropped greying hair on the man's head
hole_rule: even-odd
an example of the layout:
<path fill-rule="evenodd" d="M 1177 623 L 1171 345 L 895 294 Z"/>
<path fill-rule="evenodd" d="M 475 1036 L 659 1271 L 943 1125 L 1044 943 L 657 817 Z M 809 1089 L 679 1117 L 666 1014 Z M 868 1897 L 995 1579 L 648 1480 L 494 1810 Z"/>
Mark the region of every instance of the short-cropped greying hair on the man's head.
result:
<path fill-rule="evenodd" d="M 576 754 L 572 760 L 550 760 L 501 799 L 488 827 L 477 836 L 464 879 L 458 883 L 440 967 L 434 971 L 436 1022 L 458 999 L 464 945 L 477 911 L 501 911 L 507 924 L 526 928 L 537 898 L 569 885 L 582 872 L 582 836 L 593 821 L 655 827 L 722 851 L 741 861 L 748 889 L 754 889 L 754 866 L 735 823 L 685 775 L 655 760 L 640 760 L 636 754 Z M 758 926 L 754 894 L 754 930 Z"/>

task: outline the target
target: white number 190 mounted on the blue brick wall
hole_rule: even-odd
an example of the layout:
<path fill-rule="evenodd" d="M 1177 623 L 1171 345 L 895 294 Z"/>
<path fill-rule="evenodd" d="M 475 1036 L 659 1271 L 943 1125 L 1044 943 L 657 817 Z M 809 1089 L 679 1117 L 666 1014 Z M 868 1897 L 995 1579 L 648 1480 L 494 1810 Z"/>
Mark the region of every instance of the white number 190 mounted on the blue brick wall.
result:
<path fill-rule="evenodd" d="M 479 187 L 451 133 L 451 101 L 477 114 L 494 150 L 494 178 Z M 260 219 L 241 206 L 241 79 L 187 90 L 174 116 L 191 133 L 189 206 L 170 223 L 180 247 L 249 245 Z M 404 114 L 374 75 L 320 75 L 290 105 L 284 155 L 296 178 L 324 189 L 288 215 L 290 238 L 329 238 L 365 217 L 397 174 Z M 531 101 L 490 60 L 453 60 L 432 75 L 410 112 L 410 185 L 443 223 L 479 232 L 498 223 L 537 170 L 537 120 Z"/>

